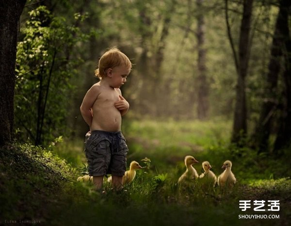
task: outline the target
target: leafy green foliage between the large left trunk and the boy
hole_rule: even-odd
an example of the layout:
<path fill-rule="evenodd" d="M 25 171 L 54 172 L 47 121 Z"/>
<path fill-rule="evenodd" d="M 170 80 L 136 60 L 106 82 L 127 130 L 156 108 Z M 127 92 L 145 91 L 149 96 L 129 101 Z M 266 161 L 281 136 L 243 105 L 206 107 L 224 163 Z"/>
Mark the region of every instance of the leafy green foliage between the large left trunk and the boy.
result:
<path fill-rule="evenodd" d="M 19 141 L 30 139 L 48 146 L 55 137 L 69 133 L 66 116 L 74 92 L 71 79 L 81 62 L 72 57 L 73 48 L 89 36 L 64 17 L 53 16 L 45 6 L 29 16 L 16 56 L 16 136 Z M 75 18 L 83 21 L 84 16 Z"/>

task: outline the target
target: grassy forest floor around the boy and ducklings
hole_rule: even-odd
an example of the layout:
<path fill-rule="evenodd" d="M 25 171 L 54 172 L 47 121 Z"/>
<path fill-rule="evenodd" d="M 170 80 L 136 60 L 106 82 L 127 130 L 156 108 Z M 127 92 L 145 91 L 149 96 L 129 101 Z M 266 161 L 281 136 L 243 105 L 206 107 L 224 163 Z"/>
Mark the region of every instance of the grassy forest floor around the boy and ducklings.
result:
<path fill-rule="evenodd" d="M 134 181 L 126 185 L 127 192 L 121 193 L 112 192 L 108 183 L 102 194 L 92 184 L 76 181 L 85 171 L 82 145 L 64 142 L 51 150 L 27 144 L 2 147 L 0 225 L 290 225 L 290 158 L 273 159 L 257 156 L 248 148 L 236 149 L 227 145 L 228 134 L 218 132 L 224 131 L 221 125 L 205 129 L 211 125 L 196 124 L 145 122 L 126 127 L 131 150 L 128 163 L 136 160 L 146 168 L 138 170 Z M 238 178 L 235 188 L 223 191 L 199 183 L 179 186 L 187 154 L 200 163 L 210 161 L 216 175 L 230 159 Z M 194 165 L 199 174 L 200 163 Z M 251 208 L 242 211 L 240 200 L 250 200 Z M 265 211 L 254 211 L 255 200 L 265 201 L 261 208 Z M 280 210 L 267 210 L 268 200 L 279 200 Z M 279 218 L 242 219 L 242 215 Z"/>

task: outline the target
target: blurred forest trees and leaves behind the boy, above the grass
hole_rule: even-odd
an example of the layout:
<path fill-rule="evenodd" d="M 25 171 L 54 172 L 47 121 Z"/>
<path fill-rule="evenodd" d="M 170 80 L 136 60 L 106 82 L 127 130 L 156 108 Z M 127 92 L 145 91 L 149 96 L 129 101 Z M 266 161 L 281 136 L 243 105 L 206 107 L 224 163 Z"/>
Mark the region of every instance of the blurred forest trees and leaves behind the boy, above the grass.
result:
<path fill-rule="evenodd" d="M 98 81 L 100 55 L 116 46 L 134 65 L 122 87 L 127 119 L 233 118 L 232 141 L 246 134 L 260 151 L 277 151 L 290 144 L 287 9 L 277 1 L 27 2 L 16 136 L 45 146 L 82 137 L 79 106 Z"/>

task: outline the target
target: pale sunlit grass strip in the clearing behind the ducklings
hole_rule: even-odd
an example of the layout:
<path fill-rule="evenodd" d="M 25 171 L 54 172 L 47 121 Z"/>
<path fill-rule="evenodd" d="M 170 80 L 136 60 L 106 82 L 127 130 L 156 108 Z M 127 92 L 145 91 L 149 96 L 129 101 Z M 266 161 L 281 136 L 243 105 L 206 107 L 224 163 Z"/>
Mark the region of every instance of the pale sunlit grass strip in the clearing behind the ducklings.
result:
<path fill-rule="evenodd" d="M 231 122 L 219 119 L 201 121 L 132 121 L 123 128 L 127 139 L 137 139 L 148 143 L 149 147 L 186 146 L 190 148 L 208 148 L 227 142 L 230 138 Z"/>

